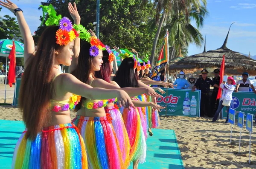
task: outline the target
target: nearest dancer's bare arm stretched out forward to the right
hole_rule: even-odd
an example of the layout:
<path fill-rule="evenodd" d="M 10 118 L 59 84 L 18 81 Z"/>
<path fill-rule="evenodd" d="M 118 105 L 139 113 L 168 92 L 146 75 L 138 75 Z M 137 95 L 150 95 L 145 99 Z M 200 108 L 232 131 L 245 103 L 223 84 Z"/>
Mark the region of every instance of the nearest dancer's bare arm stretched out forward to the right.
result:
<path fill-rule="evenodd" d="M 63 73 L 61 76 L 61 90 L 63 92 L 70 92 L 76 95 L 83 96 L 89 99 L 113 99 L 117 97 L 117 101 L 120 105 L 128 108 L 134 107 L 131 102 L 130 96 L 123 90 L 108 90 L 103 88 L 93 88 L 87 85 L 70 73 Z"/>

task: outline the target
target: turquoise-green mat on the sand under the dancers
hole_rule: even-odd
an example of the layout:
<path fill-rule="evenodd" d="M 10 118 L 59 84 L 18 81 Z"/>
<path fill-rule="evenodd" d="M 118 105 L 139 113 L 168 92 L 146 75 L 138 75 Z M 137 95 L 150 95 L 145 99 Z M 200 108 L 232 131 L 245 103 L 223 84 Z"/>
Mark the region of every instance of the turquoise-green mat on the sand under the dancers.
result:
<path fill-rule="evenodd" d="M 11 168 L 12 154 L 24 128 L 22 121 L 0 120 L 0 169 Z M 154 135 L 147 140 L 146 162 L 139 164 L 139 169 L 184 169 L 175 132 L 152 131 Z"/>

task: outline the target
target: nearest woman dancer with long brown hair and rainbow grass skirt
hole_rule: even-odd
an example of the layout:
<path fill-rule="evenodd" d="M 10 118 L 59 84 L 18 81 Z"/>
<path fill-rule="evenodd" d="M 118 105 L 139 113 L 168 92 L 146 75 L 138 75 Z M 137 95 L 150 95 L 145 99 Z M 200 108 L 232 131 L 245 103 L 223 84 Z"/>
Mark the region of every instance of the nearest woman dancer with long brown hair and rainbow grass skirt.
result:
<path fill-rule="evenodd" d="M 24 39 L 26 68 L 19 97 L 26 131 L 16 144 L 12 168 L 87 168 L 83 139 L 71 124 L 69 109 L 79 102 L 80 96 L 75 95 L 78 93 L 91 99 L 115 96 L 110 94 L 110 90 L 93 89 L 73 75 L 60 74 L 59 64 L 70 65 L 73 55 L 73 39 L 76 36 L 71 35 L 76 31 L 66 30 L 66 24 L 63 24 L 70 25 L 70 20 L 60 17 L 57 20 L 59 26 L 47 27 L 35 52 L 34 40 L 22 11 L 11 1 L 6 1 L 0 1 L 0 4 L 17 16 Z M 47 8 L 52 12 L 54 10 L 52 6 Z M 51 25 L 49 20 L 47 25 Z M 61 36 L 61 32 L 65 32 L 65 37 Z M 119 93 L 120 102 L 124 100 L 122 105 L 133 105 L 125 92 L 116 90 L 114 93 Z"/>

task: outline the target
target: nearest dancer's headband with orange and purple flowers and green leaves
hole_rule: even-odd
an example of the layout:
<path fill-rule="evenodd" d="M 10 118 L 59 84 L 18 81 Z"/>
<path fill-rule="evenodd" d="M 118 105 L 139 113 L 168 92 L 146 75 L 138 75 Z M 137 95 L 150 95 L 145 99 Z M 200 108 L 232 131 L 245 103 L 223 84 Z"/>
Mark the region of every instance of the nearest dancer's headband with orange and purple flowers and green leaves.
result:
<path fill-rule="evenodd" d="M 48 13 L 49 17 L 45 21 L 45 25 L 51 26 L 56 25 L 59 26 L 58 31 L 56 31 L 56 43 L 58 45 L 67 45 L 69 42 L 73 41 L 77 37 L 83 40 L 90 39 L 90 33 L 82 25 L 72 25 L 70 19 L 67 17 L 61 17 L 59 14 L 57 16 L 57 12 L 53 8 L 52 4 L 49 6 L 40 6 L 43 9 L 43 20 L 41 25 L 44 23 L 45 14 Z M 78 34 L 77 31 L 80 31 Z"/>

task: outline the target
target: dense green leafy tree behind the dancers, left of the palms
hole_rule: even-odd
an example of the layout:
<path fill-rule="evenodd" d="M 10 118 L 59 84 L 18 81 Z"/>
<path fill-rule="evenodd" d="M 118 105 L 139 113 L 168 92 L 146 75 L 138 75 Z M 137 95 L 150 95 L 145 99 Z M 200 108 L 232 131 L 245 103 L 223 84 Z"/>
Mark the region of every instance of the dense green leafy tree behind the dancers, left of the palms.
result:
<path fill-rule="evenodd" d="M 67 10 L 69 0 L 47 0 L 41 5 L 49 5 L 56 9 L 62 17 L 70 17 Z M 151 3 L 140 9 L 142 0 L 105 0 L 100 4 L 99 39 L 106 45 L 119 48 L 134 48 L 140 56 L 151 53 L 154 31 L 148 29 L 148 21 L 154 18 Z M 81 16 L 81 25 L 94 29 L 96 22 L 96 0 L 76 0 Z M 47 17 L 47 16 L 46 16 Z M 41 17 L 41 20 L 45 19 Z M 45 25 L 38 27 L 36 35 L 41 35 Z"/>

